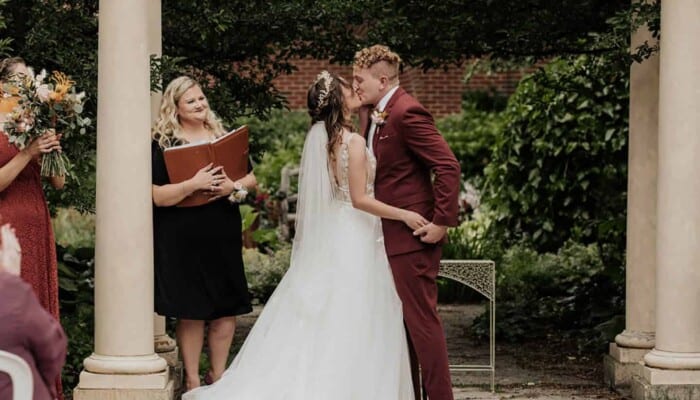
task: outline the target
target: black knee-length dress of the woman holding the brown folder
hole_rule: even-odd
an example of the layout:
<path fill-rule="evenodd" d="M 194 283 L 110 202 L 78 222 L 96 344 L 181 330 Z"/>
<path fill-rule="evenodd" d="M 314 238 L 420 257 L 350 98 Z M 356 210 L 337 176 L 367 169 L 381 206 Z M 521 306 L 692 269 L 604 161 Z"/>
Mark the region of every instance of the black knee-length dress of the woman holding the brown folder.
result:
<path fill-rule="evenodd" d="M 153 183 L 170 183 L 160 146 L 151 148 Z M 154 205 L 153 244 L 158 314 L 212 320 L 252 311 L 237 204 L 224 197 L 196 207 Z"/>

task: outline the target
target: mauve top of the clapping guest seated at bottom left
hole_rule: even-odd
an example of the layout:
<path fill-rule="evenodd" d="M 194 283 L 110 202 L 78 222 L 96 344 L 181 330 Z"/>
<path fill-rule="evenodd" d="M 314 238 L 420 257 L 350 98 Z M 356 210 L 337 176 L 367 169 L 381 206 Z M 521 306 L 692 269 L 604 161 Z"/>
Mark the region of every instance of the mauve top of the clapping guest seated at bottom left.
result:
<path fill-rule="evenodd" d="M 0 271 L 0 349 L 29 364 L 34 400 L 56 398 L 56 379 L 66 362 L 63 328 L 20 277 Z M 0 373 L 0 399 L 11 399 L 10 378 Z"/>

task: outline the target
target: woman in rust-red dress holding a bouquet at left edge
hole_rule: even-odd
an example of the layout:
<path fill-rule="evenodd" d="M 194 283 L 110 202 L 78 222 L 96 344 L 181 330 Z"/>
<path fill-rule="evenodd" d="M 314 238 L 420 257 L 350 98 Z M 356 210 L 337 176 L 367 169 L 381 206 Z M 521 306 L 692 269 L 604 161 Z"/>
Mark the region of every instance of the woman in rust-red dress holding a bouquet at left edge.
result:
<path fill-rule="evenodd" d="M 0 85 L 26 74 L 27 66 L 19 57 L 0 61 Z M 0 87 L 2 87 L 0 86 Z M 0 215 L 15 228 L 22 248 L 21 277 L 34 289 L 41 305 L 57 320 L 58 267 L 56 244 L 49 209 L 41 186 L 41 155 L 61 151 L 60 135 L 47 132 L 23 150 L 10 144 L 4 132 L 7 115 L 16 99 L 4 94 L 0 98 Z M 52 176 L 51 186 L 63 188 L 65 177 Z M 61 397 L 60 380 L 57 392 Z"/>

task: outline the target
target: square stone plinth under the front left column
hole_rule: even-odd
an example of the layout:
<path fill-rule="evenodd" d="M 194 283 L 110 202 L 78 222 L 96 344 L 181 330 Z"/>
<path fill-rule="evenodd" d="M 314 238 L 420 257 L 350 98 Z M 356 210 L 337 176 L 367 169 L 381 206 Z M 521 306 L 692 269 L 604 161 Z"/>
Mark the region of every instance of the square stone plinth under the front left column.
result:
<path fill-rule="evenodd" d="M 73 389 L 74 400 L 173 400 L 175 382 L 168 371 L 155 376 L 105 375 L 80 373 L 80 383 Z M 160 386 L 157 384 L 160 384 Z"/>

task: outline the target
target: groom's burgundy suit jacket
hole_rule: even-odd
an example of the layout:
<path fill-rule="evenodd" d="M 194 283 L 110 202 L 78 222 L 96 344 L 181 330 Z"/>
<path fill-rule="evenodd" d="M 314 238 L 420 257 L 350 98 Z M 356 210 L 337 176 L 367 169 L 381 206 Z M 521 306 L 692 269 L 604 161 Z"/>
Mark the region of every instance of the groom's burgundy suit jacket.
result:
<path fill-rule="evenodd" d="M 360 132 L 365 138 L 369 110 L 360 110 Z M 385 124 L 377 126 L 372 143 L 377 158 L 377 200 L 420 213 L 437 225 L 456 226 L 461 169 L 433 117 L 400 87 L 384 111 L 388 116 Z M 433 246 L 413 236 L 413 230 L 401 221 L 384 219 L 382 228 L 390 256 Z"/>

